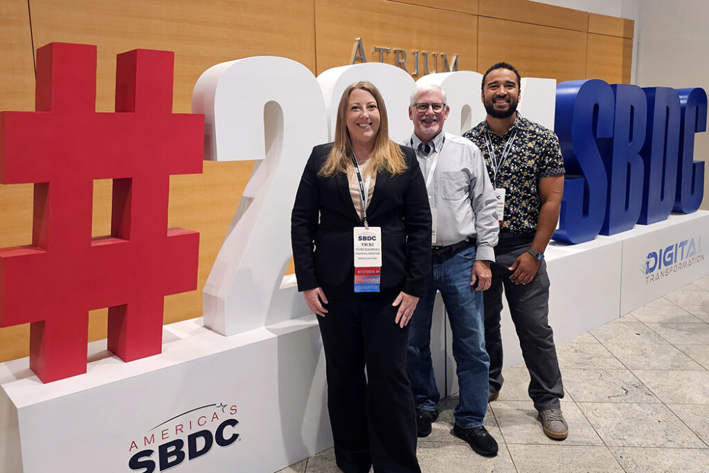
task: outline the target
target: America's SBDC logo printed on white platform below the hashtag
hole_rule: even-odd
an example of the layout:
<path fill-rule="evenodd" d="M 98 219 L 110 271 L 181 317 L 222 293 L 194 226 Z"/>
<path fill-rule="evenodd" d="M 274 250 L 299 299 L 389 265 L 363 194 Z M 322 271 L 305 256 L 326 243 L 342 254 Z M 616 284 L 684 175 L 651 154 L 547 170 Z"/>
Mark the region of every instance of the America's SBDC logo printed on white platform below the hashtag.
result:
<path fill-rule="evenodd" d="M 195 460 L 210 452 L 213 445 L 229 447 L 239 438 L 235 428 L 234 404 L 208 404 L 190 409 L 167 419 L 148 430 L 147 434 L 130 441 L 128 452 L 141 447 L 128 460 L 128 468 L 139 473 L 163 472 L 177 467 L 184 460 Z M 157 447 L 157 458 L 155 455 Z"/>

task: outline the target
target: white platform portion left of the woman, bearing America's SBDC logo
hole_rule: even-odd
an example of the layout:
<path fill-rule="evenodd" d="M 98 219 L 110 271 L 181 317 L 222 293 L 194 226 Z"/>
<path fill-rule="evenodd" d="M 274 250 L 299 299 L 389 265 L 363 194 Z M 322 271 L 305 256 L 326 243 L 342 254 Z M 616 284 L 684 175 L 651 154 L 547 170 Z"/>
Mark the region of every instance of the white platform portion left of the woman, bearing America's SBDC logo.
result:
<path fill-rule="evenodd" d="M 128 466 L 143 450 L 154 450 L 143 461 L 159 472 L 159 446 L 178 439 L 186 455 L 170 472 L 274 472 L 325 450 L 332 436 L 317 325 L 308 316 L 224 337 L 201 318 L 174 323 L 161 355 L 124 363 L 106 340 L 90 343 L 88 372 L 49 384 L 28 358 L 3 363 L 0 472 L 146 472 L 145 463 Z M 238 439 L 213 440 L 189 460 L 189 435 L 195 452 L 206 450 L 225 421 L 221 436 Z M 170 455 L 166 464 L 180 460 Z"/>

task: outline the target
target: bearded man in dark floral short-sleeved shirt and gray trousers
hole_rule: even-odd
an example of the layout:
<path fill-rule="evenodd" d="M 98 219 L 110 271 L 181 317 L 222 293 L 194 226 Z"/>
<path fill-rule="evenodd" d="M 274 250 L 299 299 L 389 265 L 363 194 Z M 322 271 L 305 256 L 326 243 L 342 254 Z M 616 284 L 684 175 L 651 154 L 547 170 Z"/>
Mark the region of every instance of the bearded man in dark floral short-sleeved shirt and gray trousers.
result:
<path fill-rule="evenodd" d="M 544 433 L 564 440 L 569 433 L 559 405 L 564 396 L 552 328 L 549 277 L 544 252 L 559 219 L 564 160 L 552 130 L 517 113 L 520 74 L 498 62 L 482 80 L 487 118 L 464 133 L 483 153 L 498 199 L 500 219 L 492 283 L 484 293 L 485 344 L 490 355 L 489 400 L 502 388 L 500 313 L 503 288 L 530 372 L 529 394 Z"/>

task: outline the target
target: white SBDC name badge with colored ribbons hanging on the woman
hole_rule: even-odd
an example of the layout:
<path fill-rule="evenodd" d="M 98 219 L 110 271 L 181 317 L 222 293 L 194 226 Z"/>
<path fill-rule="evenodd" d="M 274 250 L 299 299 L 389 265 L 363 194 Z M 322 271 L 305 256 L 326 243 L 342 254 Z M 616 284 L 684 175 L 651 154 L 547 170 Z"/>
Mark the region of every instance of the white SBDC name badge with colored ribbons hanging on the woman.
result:
<path fill-rule="evenodd" d="M 354 292 L 379 292 L 381 227 L 354 227 Z"/>

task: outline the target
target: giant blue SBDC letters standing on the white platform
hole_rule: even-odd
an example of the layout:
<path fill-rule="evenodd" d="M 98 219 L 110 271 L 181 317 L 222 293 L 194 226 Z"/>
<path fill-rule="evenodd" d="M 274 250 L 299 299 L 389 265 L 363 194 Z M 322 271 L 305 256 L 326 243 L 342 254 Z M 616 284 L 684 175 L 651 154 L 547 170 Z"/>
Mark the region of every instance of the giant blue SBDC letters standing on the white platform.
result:
<path fill-rule="evenodd" d="M 706 120 L 703 89 L 559 84 L 554 128 L 566 178 L 554 239 L 581 243 L 696 211 L 704 163 L 693 161 L 694 134 Z"/>

